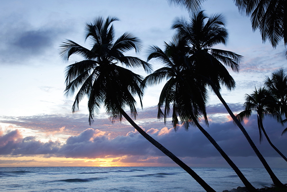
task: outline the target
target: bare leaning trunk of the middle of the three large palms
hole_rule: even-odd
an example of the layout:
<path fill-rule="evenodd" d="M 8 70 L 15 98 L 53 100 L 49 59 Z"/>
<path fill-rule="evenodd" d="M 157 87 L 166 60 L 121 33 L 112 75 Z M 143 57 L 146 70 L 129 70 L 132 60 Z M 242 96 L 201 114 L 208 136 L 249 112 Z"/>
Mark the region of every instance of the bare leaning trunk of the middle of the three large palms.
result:
<path fill-rule="evenodd" d="M 221 147 L 216 143 L 216 141 L 209 135 L 209 133 L 198 123 L 195 117 L 192 117 L 195 125 L 199 128 L 199 130 L 204 134 L 204 136 L 212 143 L 212 145 L 217 149 L 217 151 L 222 155 L 222 157 L 226 160 L 226 162 L 230 165 L 230 167 L 236 172 L 238 177 L 241 179 L 242 183 L 249 191 L 257 191 L 253 185 L 247 180 L 247 178 L 242 174 L 242 172 L 238 169 L 238 167 L 232 162 L 232 160 L 226 155 L 226 153 L 221 149 Z"/>

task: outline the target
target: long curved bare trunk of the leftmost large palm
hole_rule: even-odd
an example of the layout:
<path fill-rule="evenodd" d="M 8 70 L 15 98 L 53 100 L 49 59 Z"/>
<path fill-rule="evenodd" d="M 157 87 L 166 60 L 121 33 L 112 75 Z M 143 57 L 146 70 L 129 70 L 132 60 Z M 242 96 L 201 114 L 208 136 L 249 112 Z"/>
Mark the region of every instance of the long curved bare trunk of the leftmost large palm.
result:
<path fill-rule="evenodd" d="M 169 158 L 171 158 L 176 164 L 178 164 L 181 168 L 183 168 L 188 174 L 190 174 L 195 181 L 197 181 L 206 191 L 214 191 L 205 181 L 199 177 L 189 166 L 183 163 L 177 156 L 168 151 L 164 146 L 158 143 L 155 139 L 153 139 L 150 135 L 148 135 L 144 130 L 142 130 L 128 115 L 124 110 L 121 110 L 121 114 L 127 119 L 127 121 L 142 135 L 146 138 L 150 143 L 156 146 L 160 151 L 166 154 Z"/>

